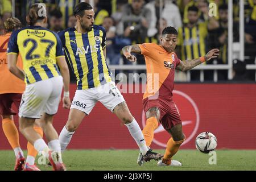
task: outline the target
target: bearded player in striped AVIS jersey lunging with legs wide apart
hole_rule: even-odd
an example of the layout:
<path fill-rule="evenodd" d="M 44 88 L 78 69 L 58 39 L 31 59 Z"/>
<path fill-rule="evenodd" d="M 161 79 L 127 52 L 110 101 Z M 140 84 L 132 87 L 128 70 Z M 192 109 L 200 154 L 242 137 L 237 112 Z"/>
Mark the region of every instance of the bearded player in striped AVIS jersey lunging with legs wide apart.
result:
<path fill-rule="evenodd" d="M 81 2 L 75 7 L 74 15 L 76 26 L 58 33 L 77 78 L 77 90 L 68 121 L 59 137 L 61 151 L 67 148 L 85 115 L 89 115 L 97 101 L 100 101 L 127 126 L 146 161 L 162 158 L 163 155 L 147 148 L 141 128 L 131 115 L 115 82 L 110 78 L 111 72 L 105 60 L 106 31 L 101 26 L 93 25 L 92 6 Z"/>

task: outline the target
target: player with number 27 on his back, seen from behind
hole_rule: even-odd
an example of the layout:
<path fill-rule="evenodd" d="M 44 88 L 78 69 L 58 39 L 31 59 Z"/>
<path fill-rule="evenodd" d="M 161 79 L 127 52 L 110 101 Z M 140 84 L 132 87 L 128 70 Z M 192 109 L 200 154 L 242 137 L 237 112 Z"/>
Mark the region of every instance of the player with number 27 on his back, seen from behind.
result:
<path fill-rule="evenodd" d="M 43 28 L 47 23 L 45 5 L 32 5 L 26 20 L 30 26 L 14 31 L 7 49 L 10 72 L 26 82 L 19 107 L 19 129 L 38 152 L 45 152 L 54 170 L 63 171 L 65 166 L 61 159 L 59 136 L 52 122 L 63 85 L 63 107 L 68 109 L 70 106 L 68 65 L 59 36 Z M 16 66 L 18 53 L 22 57 L 24 71 Z M 48 145 L 33 129 L 36 118 L 42 119 L 40 122 Z"/>

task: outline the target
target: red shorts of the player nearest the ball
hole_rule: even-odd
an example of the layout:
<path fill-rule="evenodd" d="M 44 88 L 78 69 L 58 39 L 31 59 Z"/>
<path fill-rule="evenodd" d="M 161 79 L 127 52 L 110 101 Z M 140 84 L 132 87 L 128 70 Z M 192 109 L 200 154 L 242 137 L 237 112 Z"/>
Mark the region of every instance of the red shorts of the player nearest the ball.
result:
<path fill-rule="evenodd" d="M 175 125 L 181 124 L 180 114 L 177 111 L 177 107 L 174 101 L 167 100 L 163 97 L 158 97 L 155 100 L 149 100 L 145 98 L 142 101 L 143 110 L 146 113 L 151 107 L 158 107 L 160 110 L 160 123 L 163 125 L 165 130 L 170 130 Z"/>

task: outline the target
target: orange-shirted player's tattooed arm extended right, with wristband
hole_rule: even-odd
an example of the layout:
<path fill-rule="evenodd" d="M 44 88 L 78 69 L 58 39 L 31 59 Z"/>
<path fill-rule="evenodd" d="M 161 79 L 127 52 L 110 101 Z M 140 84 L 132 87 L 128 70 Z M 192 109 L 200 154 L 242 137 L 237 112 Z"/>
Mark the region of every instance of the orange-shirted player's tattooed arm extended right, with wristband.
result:
<path fill-rule="evenodd" d="M 209 61 L 212 58 L 218 57 L 219 51 L 219 49 L 212 49 L 205 56 L 199 57 L 198 59 L 180 61 L 180 64 L 177 65 L 176 69 L 179 69 L 180 71 L 192 69 L 197 65 L 204 63 L 204 61 Z"/>

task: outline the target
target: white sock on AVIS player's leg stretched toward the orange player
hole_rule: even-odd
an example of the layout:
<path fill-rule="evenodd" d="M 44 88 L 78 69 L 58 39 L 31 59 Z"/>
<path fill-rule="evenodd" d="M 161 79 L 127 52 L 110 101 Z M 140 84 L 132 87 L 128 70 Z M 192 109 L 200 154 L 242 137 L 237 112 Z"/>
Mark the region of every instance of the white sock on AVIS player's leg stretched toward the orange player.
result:
<path fill-rule="evenodd" d="M 141 128 L 139 127 L 135 118 L 133 119 L 132 122 L 128 123 L 126 126 L 127 126 L 128 130 L 130 131 L 131 136 L 133 136 L 133 139 L 138 144 L 139 149 L 142 152 L 142 155 L 146 155 L 146 153 L 148 151 L 148 148 L 146 146 L 146 141 L 142 134 Z"/>

